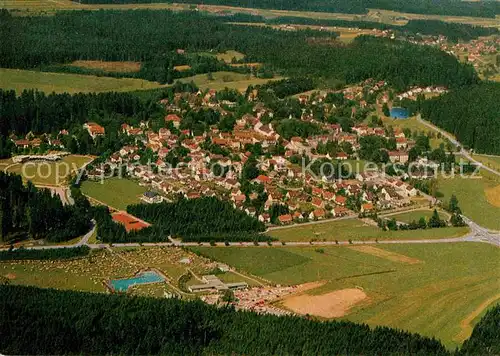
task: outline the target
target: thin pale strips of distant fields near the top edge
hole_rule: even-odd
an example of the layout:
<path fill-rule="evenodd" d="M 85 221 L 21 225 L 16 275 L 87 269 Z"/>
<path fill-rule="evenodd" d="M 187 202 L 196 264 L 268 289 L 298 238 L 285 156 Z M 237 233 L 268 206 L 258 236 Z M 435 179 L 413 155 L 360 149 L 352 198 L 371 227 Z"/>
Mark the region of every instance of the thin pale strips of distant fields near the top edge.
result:
<path fill-rule="evenodd" d="M 409 19 L 439 19 L 446 22 L 468 23 L 472 25 L 494 26 L 500 27 L 499 16 L 495 19 L 478 18 L 466 16 L 439 16 L 439 15 L 421 15 L 409 14 L 389 10 L 370 9 L 368 14 L 342 14 L 314 11 L 287 11 L 287 10 L 270 10 L 270 9 L 255 9 L 243 8 L 223 5 L 198 5 L 201 11 L 220 13 L 220 12 L 242 12 L 261 15 L 264 17 L 278 16 L 295 16 L 307 17 L 314 19 L 343 19 L 356 21 L 375 21 L 388 24 L 404 25 Z M 126 4 L 126 5 L 82 5 L 70 0 L 0 0 L 0 8 L 9 10 L 17 10 L 21 14 L 51 14 L 60 10 L 97 10 L 97 9 L 152 9 L 152 10 L 174 10 L 182 11 L 189 10 L 190 4 L 168 4 L 168 3 L 153 3 L 153 4 Z"/>

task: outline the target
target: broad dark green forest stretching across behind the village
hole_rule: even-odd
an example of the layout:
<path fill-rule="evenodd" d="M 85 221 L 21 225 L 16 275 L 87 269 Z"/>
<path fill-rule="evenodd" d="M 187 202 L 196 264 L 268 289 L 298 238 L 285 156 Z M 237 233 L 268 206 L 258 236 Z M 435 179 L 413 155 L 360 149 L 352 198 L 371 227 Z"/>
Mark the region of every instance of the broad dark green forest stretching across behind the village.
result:
<path fill-rule="evenodd" d="M 248 62 L 264 63 L 287 76 L 347 83 L 371 77 L 387 80 L 398 90 L 478 81 L 472 66 L 437 48 L 370 36 L 346 46 L 328 32 L 236 26 L 225 23 L 223 17 L 196 12 L 78 11 L 43 17 L 12 17 L 3 12 L 1 17 L 2 67 L 41 69 L 78 59 L 152 61 L 156 65 L 149 72 L 158 72 L 148 75 L 166 78 L 174 53 L 182 64 L 177 49 L 183 49 L 185 57 L 234 49 L 244 53 Z"/>

